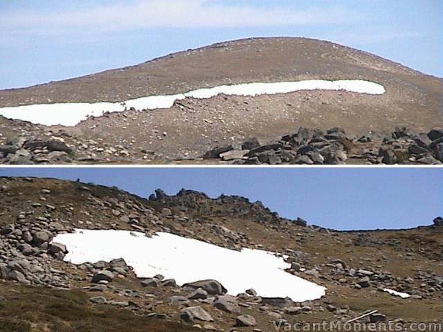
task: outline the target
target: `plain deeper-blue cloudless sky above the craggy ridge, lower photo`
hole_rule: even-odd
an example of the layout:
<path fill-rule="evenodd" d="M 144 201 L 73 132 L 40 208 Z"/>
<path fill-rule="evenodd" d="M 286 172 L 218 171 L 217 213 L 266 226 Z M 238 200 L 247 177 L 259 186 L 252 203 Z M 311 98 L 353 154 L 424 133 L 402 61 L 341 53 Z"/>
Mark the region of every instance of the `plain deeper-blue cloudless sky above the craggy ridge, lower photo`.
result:
<path fill-rule="evenodd" d="M 443 215 L 443 169 L 435 168 L 0 168 L 0 176 L 80 178 L 143 197 L 183 187 L 236 194 L 340 230 L 411 228 Z"/>

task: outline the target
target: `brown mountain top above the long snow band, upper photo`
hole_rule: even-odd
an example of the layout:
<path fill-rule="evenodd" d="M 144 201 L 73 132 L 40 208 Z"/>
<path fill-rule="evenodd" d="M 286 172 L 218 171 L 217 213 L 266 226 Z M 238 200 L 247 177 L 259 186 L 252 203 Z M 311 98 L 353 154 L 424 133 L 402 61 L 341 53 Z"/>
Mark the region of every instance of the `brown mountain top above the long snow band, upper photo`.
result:
<path fill-rule="evenodd" d="M 303 37 L 260 37 L 221 42 L 69 80 L 0 91 L 0 107 L 53 102 L 120 102 L 148 95 L 250 82 L 360 79 L 442 83 L 376 55 Z M 429 84 L 426 84 L 429 81 Z M 431 89 L 437 93 L 437 89 Z"/>

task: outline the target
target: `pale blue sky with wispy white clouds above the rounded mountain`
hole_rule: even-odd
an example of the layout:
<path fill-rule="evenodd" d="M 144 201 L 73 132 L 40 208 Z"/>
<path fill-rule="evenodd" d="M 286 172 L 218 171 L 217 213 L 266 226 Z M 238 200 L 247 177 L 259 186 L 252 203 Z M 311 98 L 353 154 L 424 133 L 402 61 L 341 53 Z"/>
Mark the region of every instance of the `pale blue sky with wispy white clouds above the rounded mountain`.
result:
<path fill-rule="evenodd" d="M 0 89 L 242 37 L 327 39 L 443 77 L 440 0 L 0 0 Z"/>

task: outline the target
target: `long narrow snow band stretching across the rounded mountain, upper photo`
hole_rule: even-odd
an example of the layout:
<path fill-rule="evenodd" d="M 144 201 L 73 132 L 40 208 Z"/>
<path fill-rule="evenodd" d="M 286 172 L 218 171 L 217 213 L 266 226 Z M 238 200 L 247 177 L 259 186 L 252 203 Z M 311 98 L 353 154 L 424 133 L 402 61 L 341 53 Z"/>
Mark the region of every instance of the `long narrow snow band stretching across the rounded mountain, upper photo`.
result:
<path fill-rule="evenodd" d="M 105 112 L 122 112 L 134 107 L 143 109 L 168 109 L 176 100 L 187 97 L 206 99 L 224 93 L 225 95 L 264 95 L 276 93 L 290 93 L 300 90 L 334 90 L 350 91 L 382 95 L 386 92 L 381 84 L 365 80 L 302 80 L 297 82 L 275 83 L 244 83 L 235 85 L 221 85 L 209 89 L 198 89 L 177 95 L 152 95 L 124 102 L 69 102 L 58 104 L 32 104 L 17 107 L 0 108 L 0 115 L 15 120 L 24 120 L 47 126 L 61 124 L 72 127 L 86 120 L 89 116 L 102 116 Z"/>

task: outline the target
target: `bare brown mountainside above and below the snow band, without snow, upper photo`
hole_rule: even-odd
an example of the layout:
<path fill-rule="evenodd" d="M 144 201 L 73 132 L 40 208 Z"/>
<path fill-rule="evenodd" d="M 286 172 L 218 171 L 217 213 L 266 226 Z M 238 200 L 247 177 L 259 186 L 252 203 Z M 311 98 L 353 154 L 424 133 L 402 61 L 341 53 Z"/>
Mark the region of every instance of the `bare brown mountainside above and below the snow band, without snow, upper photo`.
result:
<path fill-rule="evenodd" d="M 0 107 L 120 101 L 220 84 L 305 79 L 370 80 L 386 86 L 387 92 L 364 95 L 299 91 L 246 98 L 219 95 L 209 100 L 186 99 L 170 109 L 112 113 L 90 119 L 69 131 L 105 145 L 124 145 L 132 154 L 147 149 L 179 159 L 195 158 L 215 145 L 239 144 L 251 136 L 270 142 L 300 126 L 340 126 L 348 133 L 361 135 L 370 130 L 390 133 L 396 126 L 424 132 L 443 123 L 441 79 L 353 48 L 289 37 L 224 42 L 136 66 L 4 90 L 0 91 Z M 163 132 L 168 135 L 161 136 Z M 141 160 L 141 156 L 137 158 Z"/>

